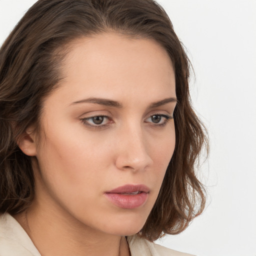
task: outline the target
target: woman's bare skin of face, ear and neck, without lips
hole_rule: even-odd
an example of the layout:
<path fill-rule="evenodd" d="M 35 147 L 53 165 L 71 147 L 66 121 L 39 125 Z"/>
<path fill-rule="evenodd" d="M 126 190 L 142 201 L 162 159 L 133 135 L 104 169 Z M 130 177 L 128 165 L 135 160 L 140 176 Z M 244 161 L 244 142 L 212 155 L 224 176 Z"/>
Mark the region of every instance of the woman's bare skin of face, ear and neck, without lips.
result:
<path fill-rule="evenodd" d="M 34 156 L 35 198 L 15 218 L 41 255 L 129 255 L 125 235 L 144 225 L 174 150 L 164 116 L 175 102 L 150 107 L 176 96 L 171 60 L 154 40 L 107 32 L 75 40 L 62 72 L 43 102 L 41 140 L 31 126 L 19 142 Z M 122 106 L 77 102 L 91 97 Z M 125 184 L 148 186 L 146 202 L 125 209 L 104 196 Z"/>

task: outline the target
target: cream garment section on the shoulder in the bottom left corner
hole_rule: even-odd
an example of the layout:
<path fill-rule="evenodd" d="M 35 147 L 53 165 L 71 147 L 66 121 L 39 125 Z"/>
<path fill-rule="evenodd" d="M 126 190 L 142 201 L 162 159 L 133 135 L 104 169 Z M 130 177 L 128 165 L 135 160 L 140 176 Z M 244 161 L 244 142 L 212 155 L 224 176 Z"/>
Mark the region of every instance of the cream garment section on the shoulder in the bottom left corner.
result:
<path fill-rule="evenodd" d="M 0 256 L 40 256 L 31 239 L 9 214 L 0 215 Z"/>

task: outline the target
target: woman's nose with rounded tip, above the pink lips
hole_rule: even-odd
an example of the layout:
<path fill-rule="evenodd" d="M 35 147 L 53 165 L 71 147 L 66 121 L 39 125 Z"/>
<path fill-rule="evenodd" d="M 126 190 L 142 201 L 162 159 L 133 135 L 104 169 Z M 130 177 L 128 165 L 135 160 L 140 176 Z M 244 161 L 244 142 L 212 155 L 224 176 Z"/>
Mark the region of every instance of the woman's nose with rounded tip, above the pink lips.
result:
<path fill-rule="evenodd" d="M 152 164 L 149 141 L 146 141 L 141 127 L 124 129 L 118 136 L 115 159 L 115 166 L 118 169 L 141 171 Z"/>

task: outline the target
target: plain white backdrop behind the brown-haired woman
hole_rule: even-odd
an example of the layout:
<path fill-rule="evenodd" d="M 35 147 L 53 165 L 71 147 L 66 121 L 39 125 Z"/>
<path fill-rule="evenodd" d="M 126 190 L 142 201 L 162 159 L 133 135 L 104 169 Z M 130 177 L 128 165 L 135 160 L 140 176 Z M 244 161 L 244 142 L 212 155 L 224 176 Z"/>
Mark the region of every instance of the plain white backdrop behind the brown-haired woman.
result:
<path fill-rule="evenodd" d="M 35 0 L 0 0 L 0 44 Z M 198 256 L 256 256 L 256 0 L 159 0 L 187 49 L 209 132 L 204 213 L 157 243 Z"/>

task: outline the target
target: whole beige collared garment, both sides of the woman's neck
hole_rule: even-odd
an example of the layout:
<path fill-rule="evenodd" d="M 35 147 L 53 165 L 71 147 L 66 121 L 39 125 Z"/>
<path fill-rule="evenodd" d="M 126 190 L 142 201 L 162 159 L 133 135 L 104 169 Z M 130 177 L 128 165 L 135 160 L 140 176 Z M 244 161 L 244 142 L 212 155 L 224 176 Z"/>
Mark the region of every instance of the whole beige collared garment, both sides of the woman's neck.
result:
<path fill-rule="evenodd" d="M 190 255 L 149 242 L 137 235 L 128 236 L 127 241 L 131 256 Z M 10 214 L 0 215 L 0 256 L 41 256 L 25 230 Z"/>

